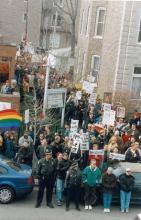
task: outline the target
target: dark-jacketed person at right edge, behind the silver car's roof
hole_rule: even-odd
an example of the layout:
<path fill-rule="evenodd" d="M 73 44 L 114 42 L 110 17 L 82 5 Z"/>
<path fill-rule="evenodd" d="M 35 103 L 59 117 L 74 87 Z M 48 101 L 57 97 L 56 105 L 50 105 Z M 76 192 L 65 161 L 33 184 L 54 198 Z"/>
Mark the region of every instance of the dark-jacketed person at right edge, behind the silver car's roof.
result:
<path fill-rule="evenodd" d="M 131 147 L 125 153 L 125 161 L 137 163 L 141 161 L 139 143 L 132 143 Z"/>

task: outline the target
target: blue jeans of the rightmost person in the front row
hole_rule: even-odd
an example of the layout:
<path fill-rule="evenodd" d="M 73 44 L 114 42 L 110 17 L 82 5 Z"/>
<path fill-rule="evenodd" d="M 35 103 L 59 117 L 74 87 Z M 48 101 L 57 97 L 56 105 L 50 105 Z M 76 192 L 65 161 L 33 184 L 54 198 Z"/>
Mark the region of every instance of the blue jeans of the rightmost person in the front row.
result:
<path fill-rule="evenodd" d="M 131 198 L 131 192 L 125 192 L 123 190 L 120 190 L 121 210 L 129 209 L 130 198 Z"/>

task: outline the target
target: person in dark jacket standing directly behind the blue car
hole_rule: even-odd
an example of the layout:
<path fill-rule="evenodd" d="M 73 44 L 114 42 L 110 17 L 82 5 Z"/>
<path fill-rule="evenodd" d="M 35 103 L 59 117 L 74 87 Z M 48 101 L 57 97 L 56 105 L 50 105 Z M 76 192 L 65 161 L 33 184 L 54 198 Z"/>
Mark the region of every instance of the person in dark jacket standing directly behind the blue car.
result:
<path fill-rule="evenodd" d="M 32 159 L 33 147 L 30 146 L 29 143 L 25 142 L 17 153 L 17 161 L 32 167 Z"/>

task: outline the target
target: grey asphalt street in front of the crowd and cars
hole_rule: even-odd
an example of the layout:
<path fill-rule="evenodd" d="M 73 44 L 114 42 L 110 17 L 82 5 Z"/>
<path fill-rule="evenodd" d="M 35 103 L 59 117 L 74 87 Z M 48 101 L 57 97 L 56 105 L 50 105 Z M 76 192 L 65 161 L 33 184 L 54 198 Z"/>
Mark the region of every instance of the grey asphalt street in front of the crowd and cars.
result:
<path fill-rule="evenodd" d="M 121 213 L 119 206 L 113 206 L 111 213 L 103 213 L 102 206 L 96 206 L 93 211 L 85 211 L 84 207 L 81 207 L 79 212 L 74 209 L 73 204 L 66 212 L 64 206 L 55 206 L 54 209 L 46 207 L 45 201 L 40 208 L 35 209 L 36 194 L 35 189 L 26 198 L 8 205 L 0 205 L 0 220 L 133 220 L 141 212 L 140 206 L 132 206 L 128 214 Z"/>

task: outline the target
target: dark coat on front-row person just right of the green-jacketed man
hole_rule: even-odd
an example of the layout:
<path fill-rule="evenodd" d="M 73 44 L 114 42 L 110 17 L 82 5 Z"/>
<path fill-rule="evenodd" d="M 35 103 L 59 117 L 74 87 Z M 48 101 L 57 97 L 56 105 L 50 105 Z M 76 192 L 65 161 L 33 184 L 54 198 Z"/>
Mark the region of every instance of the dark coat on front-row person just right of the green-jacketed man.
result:
<path fill-rule="evenodd" d="M 108 175 L 105 173 L 102 176 L 102 187 L 103 192 L 112 193 L 113 189 L 116 187 L 117 184 L 117 178 L 114 174 Z"/>

